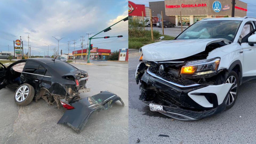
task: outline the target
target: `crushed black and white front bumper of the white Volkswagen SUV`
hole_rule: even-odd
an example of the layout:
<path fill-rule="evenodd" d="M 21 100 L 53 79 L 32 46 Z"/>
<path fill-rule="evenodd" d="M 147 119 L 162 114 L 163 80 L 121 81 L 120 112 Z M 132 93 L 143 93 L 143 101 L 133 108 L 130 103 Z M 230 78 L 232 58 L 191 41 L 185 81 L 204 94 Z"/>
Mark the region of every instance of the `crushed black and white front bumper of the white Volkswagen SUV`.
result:
<path fill-rule="evenodd" d="M 160 112 L 179 120 L 197 120 L 220 113 L 226 108 L 226 99 L 233 84 L 182 86 L 146 71 L 141 77 L 142 93 L 139 99 L 163 106 Z"/>

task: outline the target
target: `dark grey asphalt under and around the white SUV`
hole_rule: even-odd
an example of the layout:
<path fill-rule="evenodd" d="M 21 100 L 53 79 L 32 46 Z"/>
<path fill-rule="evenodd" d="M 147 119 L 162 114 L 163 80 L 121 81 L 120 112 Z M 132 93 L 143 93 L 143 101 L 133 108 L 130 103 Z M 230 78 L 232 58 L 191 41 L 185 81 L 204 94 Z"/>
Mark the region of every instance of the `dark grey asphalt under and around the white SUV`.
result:
<path fill-rule="evenodd" d="M 256 143 L 255 83 L 239 87 L 231 109 L 209 118 L 180 121 L 152 112 L 139 101 L 139 85 L 134 79 L 139 56 L 137 51 L 129 53 L 129 143 L 138 138 L 140 143 Z"/>

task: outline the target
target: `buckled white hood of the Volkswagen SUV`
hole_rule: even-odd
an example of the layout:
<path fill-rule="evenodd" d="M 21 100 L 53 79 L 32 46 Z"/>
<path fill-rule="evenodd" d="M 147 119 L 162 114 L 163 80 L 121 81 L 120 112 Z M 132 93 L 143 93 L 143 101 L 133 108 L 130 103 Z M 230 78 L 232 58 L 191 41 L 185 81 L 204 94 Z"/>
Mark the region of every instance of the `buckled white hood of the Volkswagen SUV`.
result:
<path fill-rule="evenodd" d="M 156 42 L 143 46 L 143 59 L 147 61 L 170 61 L 201 53 L 206 46 L 227 39 L 180 39 Z"/>

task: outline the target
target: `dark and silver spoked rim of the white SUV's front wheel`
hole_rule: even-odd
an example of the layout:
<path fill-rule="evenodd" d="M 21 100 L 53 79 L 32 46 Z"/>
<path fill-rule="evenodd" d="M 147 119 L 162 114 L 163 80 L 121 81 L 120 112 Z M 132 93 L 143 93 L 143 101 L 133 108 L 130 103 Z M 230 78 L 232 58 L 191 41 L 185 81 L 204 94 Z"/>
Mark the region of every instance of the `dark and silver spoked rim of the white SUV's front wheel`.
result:
<path fill-rule="evenodd" d="M 227 79 L 226 83 L 233 83 L 232 88 L 226 100 L 226 105 L 229 106 L 234 102 L 235 97 L 237 95 L 237 79 L 232 75 Z"/>

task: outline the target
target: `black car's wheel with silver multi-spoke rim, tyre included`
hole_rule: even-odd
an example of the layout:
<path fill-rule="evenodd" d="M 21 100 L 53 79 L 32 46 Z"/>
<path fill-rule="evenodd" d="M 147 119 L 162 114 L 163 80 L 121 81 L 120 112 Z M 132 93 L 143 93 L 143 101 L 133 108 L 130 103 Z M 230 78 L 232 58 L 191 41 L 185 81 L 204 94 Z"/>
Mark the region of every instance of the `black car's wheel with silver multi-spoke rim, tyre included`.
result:
<path fill-rule="evenodd" d="M 14 101 L 19 106 L 26 106 L 33 100 L 34 95 L 34 87 L 24 83 L 23 85 L 20 85 L 15 91 Z"/>

